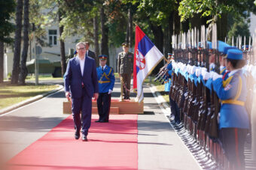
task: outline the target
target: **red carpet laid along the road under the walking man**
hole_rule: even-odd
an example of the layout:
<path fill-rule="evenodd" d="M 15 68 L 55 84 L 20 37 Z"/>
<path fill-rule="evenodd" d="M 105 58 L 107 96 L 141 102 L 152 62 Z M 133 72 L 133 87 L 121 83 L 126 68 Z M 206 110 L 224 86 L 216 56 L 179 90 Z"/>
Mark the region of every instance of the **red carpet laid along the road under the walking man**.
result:
<path fill-rule="evenodd" d="M 138 169 L 137 115 L 95 123 L 88 142 L 75 140 L 72 116 L 8 162 L 8 169 Z"/>

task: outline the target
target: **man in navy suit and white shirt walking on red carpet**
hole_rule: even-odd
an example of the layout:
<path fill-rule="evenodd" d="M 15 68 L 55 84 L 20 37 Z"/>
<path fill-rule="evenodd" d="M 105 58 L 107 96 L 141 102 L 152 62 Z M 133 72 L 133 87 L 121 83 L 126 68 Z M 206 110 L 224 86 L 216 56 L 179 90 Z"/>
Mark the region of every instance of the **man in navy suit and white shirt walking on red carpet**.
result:
<path fill-rule="evenodd" d="M 76 45 L 78 55 L 69 60 L 64 76 L 66 97 L 72 98 L 72 115 L 75 123 L 75 139 L 87 141 L 92 116 L 92 97 L 97 100 L 99 85 L 97 81 L 96 63 L 86 56 L 84 43 Z M 80 118 L 81 113 L 81 118 Z"/>

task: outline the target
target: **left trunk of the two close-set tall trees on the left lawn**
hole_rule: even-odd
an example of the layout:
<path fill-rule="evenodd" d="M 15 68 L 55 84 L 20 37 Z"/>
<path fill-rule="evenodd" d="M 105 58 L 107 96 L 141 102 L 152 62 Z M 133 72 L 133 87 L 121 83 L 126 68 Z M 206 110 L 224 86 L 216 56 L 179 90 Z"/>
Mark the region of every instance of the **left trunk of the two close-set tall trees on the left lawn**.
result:
<path fill-rule="evenodd" d="M 23 15 L 23 0 L 17 0 L 16 7 L 16 31 L 14 43 L 14 64 L 11 74 L 11 84 L 17 84 L 20 73 L 20 44 L 21 44 L 21 30 L 22 30 L 22 15 Z"/>

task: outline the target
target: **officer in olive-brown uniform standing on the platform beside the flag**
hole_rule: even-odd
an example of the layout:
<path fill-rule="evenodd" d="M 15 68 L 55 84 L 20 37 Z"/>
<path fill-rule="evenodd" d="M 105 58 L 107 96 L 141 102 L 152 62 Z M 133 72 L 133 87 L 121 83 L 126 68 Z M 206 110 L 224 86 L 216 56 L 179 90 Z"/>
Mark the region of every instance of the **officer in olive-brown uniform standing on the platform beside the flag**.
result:
<path fill-rule="evenodd" d="M 130 82 L 133 74 L 133 53 L 129 52 L 129 46 L 122 43 L 123 52 L 118 54 L 117 73 L 119 73 L 121 84 L 123 82 L 123 94 L 120 98 L 130 100 Z M 122 96 L 123 95 L 123 96 Z"/>

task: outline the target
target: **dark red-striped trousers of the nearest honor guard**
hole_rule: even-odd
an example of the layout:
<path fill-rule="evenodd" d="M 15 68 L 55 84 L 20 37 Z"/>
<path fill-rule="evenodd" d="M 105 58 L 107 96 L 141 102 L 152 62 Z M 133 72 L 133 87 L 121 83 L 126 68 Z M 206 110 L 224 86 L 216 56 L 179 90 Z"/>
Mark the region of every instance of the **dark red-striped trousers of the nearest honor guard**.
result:
<path fill-rule="evenodd" d="M 230 169 L 245 169 L 244 145 L 248 130 L 241 128 L 221 128 L 220 138 L 222 148 Z"/>

